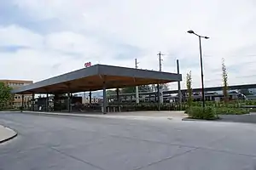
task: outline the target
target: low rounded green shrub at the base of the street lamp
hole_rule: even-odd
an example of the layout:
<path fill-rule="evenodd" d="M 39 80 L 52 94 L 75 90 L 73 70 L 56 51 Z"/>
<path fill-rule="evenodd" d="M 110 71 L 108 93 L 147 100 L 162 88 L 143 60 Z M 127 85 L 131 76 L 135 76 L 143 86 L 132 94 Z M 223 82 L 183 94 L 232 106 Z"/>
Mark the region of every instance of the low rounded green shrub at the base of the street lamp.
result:
<path fill-rule="evenodd" d="M 205 107 L 205 110 L 203 110 L 200 106 L 192 106 L 187 109 L 186 113 L 188 113 L 189 117 L 193 119 L 218 119 L 215 108 L 212 107 Z"/>

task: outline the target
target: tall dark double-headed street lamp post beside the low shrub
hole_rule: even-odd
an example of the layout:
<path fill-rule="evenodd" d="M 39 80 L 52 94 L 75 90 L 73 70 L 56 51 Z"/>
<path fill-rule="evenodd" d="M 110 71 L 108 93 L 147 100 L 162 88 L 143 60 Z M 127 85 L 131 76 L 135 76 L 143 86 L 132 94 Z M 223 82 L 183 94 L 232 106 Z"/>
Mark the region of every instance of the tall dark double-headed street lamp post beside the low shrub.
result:
<path fill-rule="evenodd" d="M 195 36 L 199 37 L 200 64 L 201 64 L 201 95 L 202 95 L 201 97 L 202 97 L 202 102 L 203 102 L 202 106 L 203 106 L 203 108 L 205 108 L 206 103 L 205 103 L 204 74 L 203 74 L 203 65 L 202 65 L 202 56 L 201 56 L 201 37 L 203 37 L 203 36 L 200 36 L 191 30 L 188 32 L 189 32 L 189 34 L 194 34 Z M 203 37 L 203 38 L 208 39 L 209 37 Z"/>

